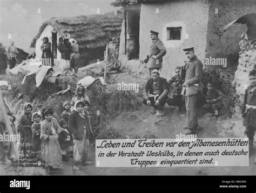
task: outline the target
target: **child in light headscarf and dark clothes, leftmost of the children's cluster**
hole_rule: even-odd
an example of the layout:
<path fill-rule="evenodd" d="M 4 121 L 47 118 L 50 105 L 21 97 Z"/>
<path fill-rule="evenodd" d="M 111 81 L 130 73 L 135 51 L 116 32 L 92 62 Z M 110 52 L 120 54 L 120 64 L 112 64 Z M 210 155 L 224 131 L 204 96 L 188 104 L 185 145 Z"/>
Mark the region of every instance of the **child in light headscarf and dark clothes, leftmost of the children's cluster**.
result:
<path fill-rule="evenodd" d="M 21 134 L 21 144 L 24 156 L 26 153 L 31 153 L 31 139 L 32 139 L 32 114 L 33 110 L 30 103 L 25 103 L 23 106 L 24 112 L 18 120 L 18 132 Z"/>

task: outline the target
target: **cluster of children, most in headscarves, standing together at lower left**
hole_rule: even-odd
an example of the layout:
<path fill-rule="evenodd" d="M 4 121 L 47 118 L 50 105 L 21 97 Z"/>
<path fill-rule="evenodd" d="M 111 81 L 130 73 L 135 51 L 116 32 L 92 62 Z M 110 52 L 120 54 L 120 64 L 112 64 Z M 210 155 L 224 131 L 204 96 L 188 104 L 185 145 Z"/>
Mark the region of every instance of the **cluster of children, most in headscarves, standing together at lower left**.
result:
<path fill-rule="evenodd" d="M 71 102 L 62 102 L 64 111 L 59 122 L 53 117 L 51 108 L 44 108 L 42 113 L 31 113 L 32 105 L 25 103 L 17 130 L 21 134 L 24 155 L 44 160 L 49 168 L 59 168 L 62 161 L 72 157 L 74 170 L 90 164 L 86 162 L 92 133 L 89 105 L 83 86 L 78 86 Z"/>

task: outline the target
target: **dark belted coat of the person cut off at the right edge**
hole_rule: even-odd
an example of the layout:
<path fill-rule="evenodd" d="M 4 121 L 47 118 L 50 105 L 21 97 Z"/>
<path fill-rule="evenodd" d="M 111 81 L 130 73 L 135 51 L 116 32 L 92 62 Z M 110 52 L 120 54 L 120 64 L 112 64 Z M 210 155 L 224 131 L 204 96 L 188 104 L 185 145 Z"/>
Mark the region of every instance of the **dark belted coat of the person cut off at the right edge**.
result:
<path fill-rule="evenodd" d="M 256 127 L 256 109 L 248 109 L 246 111 L 246 104 L 256 106 L 256 88 L 249 85 L 245 90 L 244 104 L 242 105 L 242 115 L 244 117 L 243 125 Z"/>

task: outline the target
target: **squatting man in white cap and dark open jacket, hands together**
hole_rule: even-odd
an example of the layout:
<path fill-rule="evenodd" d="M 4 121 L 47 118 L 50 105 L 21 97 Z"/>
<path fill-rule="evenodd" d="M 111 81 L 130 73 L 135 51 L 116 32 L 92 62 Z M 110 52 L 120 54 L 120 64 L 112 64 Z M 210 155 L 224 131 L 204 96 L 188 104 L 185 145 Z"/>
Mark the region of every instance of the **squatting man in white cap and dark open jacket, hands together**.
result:
<path fill-rule="evenodd" d="M 163 107 L 167 102 L 168 84 L 165 78 L 160 77 L 158 70 L 154 69 L 143 89 L 143 103 L 151 106 L 152 115 L 157 112 L 159 116 L 164 116 Z M 149 92 L 149 94 L 147 93 Z"/>

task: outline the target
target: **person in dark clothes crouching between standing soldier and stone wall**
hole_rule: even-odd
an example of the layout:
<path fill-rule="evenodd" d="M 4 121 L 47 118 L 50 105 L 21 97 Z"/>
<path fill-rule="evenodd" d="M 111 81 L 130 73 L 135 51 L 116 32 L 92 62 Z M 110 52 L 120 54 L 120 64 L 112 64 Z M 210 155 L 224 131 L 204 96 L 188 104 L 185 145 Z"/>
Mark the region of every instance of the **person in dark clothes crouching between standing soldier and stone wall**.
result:
<path fill-rule="evenodd" d="M 203 108 L 207 112 L 213 113 L 214 115 L 218 115 L 218 111 L 221 110 L 221 99 L 224 98 L 224 94 L 213 87 L 213 84 L 209 82 L 207 84 L 208 92 L 206 95 L 206 103 Z M 217 111 L 217 113 L 216 113 Z"/>

